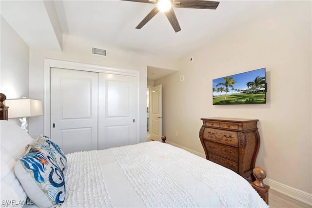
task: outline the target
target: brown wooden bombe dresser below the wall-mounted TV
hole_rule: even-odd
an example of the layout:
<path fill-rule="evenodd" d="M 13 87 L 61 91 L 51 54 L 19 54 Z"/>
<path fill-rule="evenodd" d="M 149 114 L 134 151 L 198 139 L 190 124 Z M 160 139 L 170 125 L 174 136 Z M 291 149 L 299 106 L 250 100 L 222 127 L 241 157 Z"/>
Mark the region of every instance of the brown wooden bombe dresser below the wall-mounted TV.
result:
<path fill-rule="evenodd" d="M 258 120 L 203 118 L 199 138 L 206 159 L 232 169 L 244 178 L 252 174 L 260 146 Z"/>

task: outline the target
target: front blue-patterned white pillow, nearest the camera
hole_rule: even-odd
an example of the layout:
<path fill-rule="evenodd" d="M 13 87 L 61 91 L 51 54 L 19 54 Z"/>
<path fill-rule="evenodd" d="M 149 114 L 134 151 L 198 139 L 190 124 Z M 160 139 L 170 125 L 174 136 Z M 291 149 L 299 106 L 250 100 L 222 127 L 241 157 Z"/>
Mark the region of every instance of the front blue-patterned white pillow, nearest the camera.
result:
<path fill-rule="evenodd" d="M 65 178 L 55 159 L 38 144 L 17 161 L 15 174 L 28 197 L 38 207 L 60 205 L 65 200 Z"/>

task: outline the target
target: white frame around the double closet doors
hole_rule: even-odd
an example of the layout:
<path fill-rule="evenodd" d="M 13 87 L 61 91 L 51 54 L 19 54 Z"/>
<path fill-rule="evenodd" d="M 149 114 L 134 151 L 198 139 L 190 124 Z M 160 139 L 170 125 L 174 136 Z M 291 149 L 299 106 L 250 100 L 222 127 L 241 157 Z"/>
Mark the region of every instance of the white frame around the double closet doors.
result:
<path fill-rule="evenodd" d="M 136 70 L 130 69 L 118 69 L 106 66 L 100 66 L 89 63 L 69 62 L 55 59 L 44 59 L 44 88 L 43 88 L 43 134 L 51 136 L 51 67 L 74 69 L 80 71 L 90 71 L 98 73 L 109 73 L 117 75 L 127 75 L 136 77 L 136 144 L 140 142 L 140 116 L 139 116 L 139 85 L 140 85 L 140 73 Z"/>

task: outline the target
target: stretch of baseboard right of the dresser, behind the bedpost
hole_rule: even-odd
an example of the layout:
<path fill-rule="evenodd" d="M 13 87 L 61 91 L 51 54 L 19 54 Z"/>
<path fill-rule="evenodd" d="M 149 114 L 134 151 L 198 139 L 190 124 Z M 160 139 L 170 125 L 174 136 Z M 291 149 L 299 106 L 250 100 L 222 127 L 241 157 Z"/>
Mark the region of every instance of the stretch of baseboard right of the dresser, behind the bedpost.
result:
<path fill-rule="evenodd" d="M 272 188 L 273 190 L 281 194 L 284 194 L 295 200 L 298 200 L 300 202 L 303 202 L 307 205 L 312 206 L 312 194 L 311 193 L 299 190 L 294 187 L 287 186 L 286 184 L 279 183 L 269 178 L 264 179 L 264 183 L 270 186 L 270 188 Z M 270 195 L 269 195 L 269 200 L 270 200 Z"/>

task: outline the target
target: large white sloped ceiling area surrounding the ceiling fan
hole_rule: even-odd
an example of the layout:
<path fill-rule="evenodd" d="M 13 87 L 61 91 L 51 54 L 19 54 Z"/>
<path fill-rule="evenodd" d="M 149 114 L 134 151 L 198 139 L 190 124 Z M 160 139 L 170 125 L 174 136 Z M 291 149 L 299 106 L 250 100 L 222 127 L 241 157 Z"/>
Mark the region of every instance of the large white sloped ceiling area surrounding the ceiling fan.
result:
<path fill-rule="evenodd" d="M 154 4 L 122 0 L 56 1 L 62 30 L 70 35 L 122 48 L 179 57 L 219 33 L 258 15 L 272 1 L 221 1 L 216 10 L 175 8 L 181 31 L 175 33 L 158 13 L 141 29 L 137 24 Z"/>

